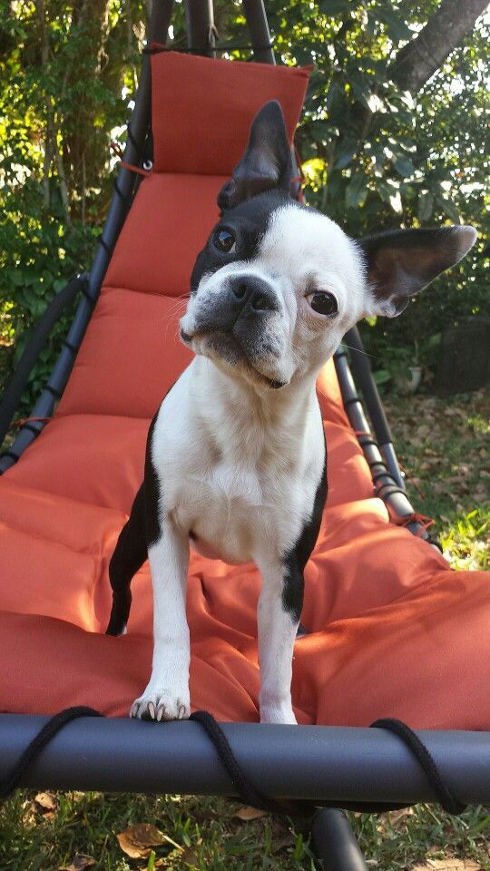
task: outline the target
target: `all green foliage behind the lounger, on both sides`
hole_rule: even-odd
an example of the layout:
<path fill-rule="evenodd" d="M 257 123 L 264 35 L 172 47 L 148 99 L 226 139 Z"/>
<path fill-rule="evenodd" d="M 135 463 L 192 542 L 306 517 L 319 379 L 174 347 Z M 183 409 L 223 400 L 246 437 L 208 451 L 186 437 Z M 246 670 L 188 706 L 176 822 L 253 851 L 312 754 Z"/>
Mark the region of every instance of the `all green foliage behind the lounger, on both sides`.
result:
<path fill-rule="evenodd" d="M 402 318 L 363 327 L 377 367 L 387 371 L 387 349 L 424 348 L 446 326 L 488 312 L 490 28 L 477 24 L 413 95 L 393 82 L 393 62 L 436 12 L 436 0 L 269 0 L 267 7 L 278 61 L 315 66 L 297 134 L 308 201 L 356 237 L 458 221 L 481 233 L 475 253 Z M 220 43 L 246 45 L 240 6 L 219 0 L 215 10 Z M 0 381 L 55 290 L 90 265 L 112 192 L 109 142 L 129 114 L 144 17 L 142 0 L 0 6 Z M 185 44 L 182 4 L 173 38 Z M 250 50 L 230 56 L 247 59 Z M 25 406 L 58 344 L 55 335 Z"/>

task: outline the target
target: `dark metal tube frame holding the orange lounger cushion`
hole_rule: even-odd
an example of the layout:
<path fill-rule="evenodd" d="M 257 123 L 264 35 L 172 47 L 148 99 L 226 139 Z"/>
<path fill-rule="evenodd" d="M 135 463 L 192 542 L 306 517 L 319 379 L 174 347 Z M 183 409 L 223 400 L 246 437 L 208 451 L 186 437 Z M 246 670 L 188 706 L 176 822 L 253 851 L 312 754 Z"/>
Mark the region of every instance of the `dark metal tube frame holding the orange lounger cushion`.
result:
<path fill-rule="evenodd" d="M 172 0 L 153 0 L 148 42 L 165 44 Z M 254 59 L 274 63 L 263 0 L 243 0 L 254 48 Z M 214 56 L 211 0 L 186 0 L 188 42 L 192 51 Z M 135 99 L 124 161 L 140 164 L 151 126 L 151 69 L 147 54 Z M 121 167 L 100 244 L 88 276 L 87 293 L 73 318 L 64 349 L 58 357 L 32 416 L 49 417 L 62 395 L 74 358 L 91 318 L 103 276 L 123 221 L 131 205 L 137 177 Z M 426 537 L 407 499 L 397 465 L 389 426 L 370 372 L 358 330 L 346 337 L 352 368 L 362 388 L 376 441 L 356 392 L 346 348 L 335 355 L 338 381 L 348 418 L 358 435 L 373 474 L 377 494 L 392 519 Z M 8 469 L 43 429 L 31 422 L 20 429 L 7 455 L 0 457 L 0 474 Z M 0 778 L 12 768 L 46 718 L 0 716 Z M 260 726 L 230 723 L 223 726 L 244 770 L 257 784 L 266 783 L 272 797 L 338 802 L 412 804 L 434 801 L 435 796 L 417 761 L 396 736 L 381 729 Z M 427 748 L 439 770 L 463 802 L 490 800 L 490 733 L 425 731 Z M 22 785 L 36 788 L 81 788 L 232 795 L 230 780 L 220 767 L 209 739 L 196 723 L 142 723 L 129 719 L 78 719 L 58 733 Z M 312 822 L 317 856 L 329 871 L 366 871 L 347 818 L 335 808 L 323 808 Z"/>

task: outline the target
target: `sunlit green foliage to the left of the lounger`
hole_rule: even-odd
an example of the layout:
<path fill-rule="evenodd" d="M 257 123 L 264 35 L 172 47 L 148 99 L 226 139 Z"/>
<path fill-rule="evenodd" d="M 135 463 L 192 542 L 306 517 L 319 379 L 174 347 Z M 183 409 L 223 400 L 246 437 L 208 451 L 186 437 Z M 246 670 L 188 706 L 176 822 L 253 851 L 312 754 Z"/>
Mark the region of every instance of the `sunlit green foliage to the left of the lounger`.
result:
<path fill-rule="evenodd" d="M 54 293 L 90 266 L 129 114 L 142 4 L 0 5 L 0 387 Z M 136 24 L 132 23 L 132 16 Z M 28 412 L 71 313 L 34 367 Z M 15 348 L 14 348 L 15 339 Z"/>

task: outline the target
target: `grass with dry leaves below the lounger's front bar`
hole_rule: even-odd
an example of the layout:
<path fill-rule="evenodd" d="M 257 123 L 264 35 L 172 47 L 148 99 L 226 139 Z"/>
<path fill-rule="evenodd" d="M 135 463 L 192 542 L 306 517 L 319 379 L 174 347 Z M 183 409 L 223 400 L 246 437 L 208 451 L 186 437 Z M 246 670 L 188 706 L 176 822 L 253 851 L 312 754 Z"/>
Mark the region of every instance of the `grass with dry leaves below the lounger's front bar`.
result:
<path fill-rule="evenodd" d="M 270 816 L 243 821 L 234 816 L 239 807 L 217 798 L 58 793 L 53 809 L 46 812 L 33 791 L 22 790 L 0 812 L 0 868 L 57 871 L 73 863 L 70 871 L 315 869 L 308 830 Z M 380 871 L 411 869 L 448 857 L 471 860 L 472 871 L 490 869 L 490 811 L 484 807 L 472 807 L 456 818 L 426 805 L 350 817 L 369 865 Z M 141 852 L 147 855 L 130 858 L 116 836 L 138 823 L 157 827 L 162 844 L 145 848 L 143 838 Z M 83 857 L 93 863 L 83 865 Z"/>

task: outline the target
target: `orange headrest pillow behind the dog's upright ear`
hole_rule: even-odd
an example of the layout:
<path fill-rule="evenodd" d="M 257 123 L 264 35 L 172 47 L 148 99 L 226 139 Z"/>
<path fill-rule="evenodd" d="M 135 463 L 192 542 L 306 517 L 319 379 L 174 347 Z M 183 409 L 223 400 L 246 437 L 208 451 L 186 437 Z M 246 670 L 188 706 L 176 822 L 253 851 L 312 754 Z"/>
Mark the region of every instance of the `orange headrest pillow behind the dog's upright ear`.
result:
<path fill-rule="evenodd" d="M 152 56 L 154 170 L 228 175 L 264 103 L 279 100 L 289 139 L 310 68 L 210 61 L 175 52 Z M 178 98 L 176 98 L 178 93 Z"/>

